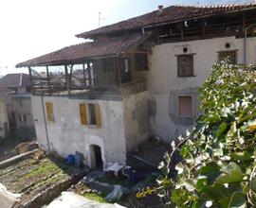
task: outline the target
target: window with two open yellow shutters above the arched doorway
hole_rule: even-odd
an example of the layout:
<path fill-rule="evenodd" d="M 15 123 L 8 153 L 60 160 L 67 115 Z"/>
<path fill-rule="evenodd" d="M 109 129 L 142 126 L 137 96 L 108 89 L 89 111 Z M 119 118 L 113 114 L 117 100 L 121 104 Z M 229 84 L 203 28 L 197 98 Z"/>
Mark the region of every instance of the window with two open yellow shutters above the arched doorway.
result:
<path fill-rule="evenodd" d="M 81 103 L 79 107 L 80 107 L 80 120 L 82 125 L 91 125 L 91 126 L 101 127 L 101 113 L 100 113 L 100 106 L 98 104 Z"/>

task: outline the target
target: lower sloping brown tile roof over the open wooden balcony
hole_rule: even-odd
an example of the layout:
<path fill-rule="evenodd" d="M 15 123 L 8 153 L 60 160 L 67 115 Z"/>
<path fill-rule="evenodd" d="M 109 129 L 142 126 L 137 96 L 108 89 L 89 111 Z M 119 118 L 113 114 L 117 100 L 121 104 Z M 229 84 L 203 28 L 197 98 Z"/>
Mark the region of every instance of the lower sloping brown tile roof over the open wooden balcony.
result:
<path fill-rule="evenodd" d="M 147 37 L 149 37 L 149 34 L 131 34 L 115 38 L 105 38 L 97 42 L 75 44 L 44 56 L 18 63 L 16 67 L 56 65 L 95 57 L 116 56 Z"/>

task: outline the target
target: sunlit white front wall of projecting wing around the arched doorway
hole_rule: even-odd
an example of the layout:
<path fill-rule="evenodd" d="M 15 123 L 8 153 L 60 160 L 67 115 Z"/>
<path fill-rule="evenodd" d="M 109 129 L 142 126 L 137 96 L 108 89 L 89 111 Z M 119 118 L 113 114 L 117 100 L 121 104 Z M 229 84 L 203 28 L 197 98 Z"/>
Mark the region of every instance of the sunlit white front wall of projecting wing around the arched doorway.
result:
<path fill-rule="evenodd" d="M 44 103 L 53 103 L 54 122 L 47 122 L 51 150 L 63 157 L 80 151 L 84 163 L 90 165 L 89 145 L 101 147 L 103 164 L 126 163 L 126 148 L 123 129 L 121 101 L 69 99 L 67 97 L 44 96 Z M 101 128 L 82 126 L 79 104 L 97 103 L 101 109 Z M 46 108 L 46 107 L 45 107 Z M 32 109 L 41 147 L 47 150 L 46 130 L 40 96 L 32 96 Z"/>

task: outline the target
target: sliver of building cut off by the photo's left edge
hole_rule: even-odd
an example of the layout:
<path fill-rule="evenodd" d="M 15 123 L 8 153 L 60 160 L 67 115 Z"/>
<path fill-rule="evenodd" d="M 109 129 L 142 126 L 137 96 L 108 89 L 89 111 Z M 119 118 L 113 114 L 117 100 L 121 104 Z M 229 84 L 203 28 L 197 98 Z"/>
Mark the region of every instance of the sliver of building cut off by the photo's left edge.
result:
<path fill-rule="evenodd" d="M 13 91 L 7 88 L 0 88 L 0 139 L 9 134 L 9 119 L 5 101 Z"/>

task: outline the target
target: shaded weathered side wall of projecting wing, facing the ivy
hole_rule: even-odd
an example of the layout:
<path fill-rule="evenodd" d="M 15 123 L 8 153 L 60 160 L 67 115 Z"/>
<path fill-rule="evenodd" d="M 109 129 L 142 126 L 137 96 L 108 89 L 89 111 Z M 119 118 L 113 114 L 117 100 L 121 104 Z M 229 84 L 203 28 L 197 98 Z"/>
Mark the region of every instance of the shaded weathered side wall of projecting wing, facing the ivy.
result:
<path fill-rule="evenodd" d="M 151 136 L 149 119 L 149 92 L 123 98 L 124 130 L 127 150 L 132 150 Z"/>

